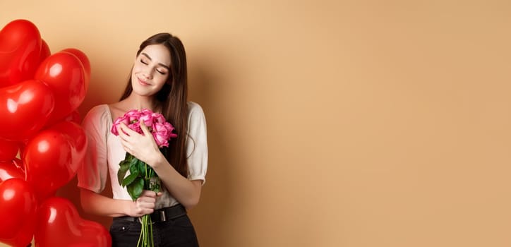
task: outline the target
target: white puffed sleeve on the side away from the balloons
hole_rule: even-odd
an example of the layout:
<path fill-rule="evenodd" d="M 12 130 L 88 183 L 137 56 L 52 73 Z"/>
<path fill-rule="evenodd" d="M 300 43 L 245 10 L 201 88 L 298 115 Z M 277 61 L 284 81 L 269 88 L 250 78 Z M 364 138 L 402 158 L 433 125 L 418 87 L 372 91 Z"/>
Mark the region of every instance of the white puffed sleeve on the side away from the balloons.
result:
<path fill-rule="evenodd" d="M 188 102 L 188 140 L 186 153 L 188 157 L 188 179 L 206 179 L 208 170 L 208 137 L 206 119 L 202 107 L 195 102 Z"/>

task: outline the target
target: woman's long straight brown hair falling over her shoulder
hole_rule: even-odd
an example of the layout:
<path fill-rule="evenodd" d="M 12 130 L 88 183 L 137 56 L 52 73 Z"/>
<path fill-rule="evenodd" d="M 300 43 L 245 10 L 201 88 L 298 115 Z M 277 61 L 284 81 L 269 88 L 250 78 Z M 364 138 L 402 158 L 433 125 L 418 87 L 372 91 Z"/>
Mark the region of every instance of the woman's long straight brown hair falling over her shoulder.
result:
<path fill-rule="evenodd" d="M 186 162 L 186 138 L 188 133 L 188 79 L 186 72 L 186 54 L 184 45 L 169 33 L 163 32 L 152 35 L 140 44 L 137 56 L 150 44 L 163 44 L 170 52 L 170 71 L 167 82 L 155 95 L 156 107 L 162 109 L 165 119 L 176 128 L 177 138 L 169 141 L 169 147 L 162 149 L 172 167 L 184 177 L 188 176 L 188 163 Z M 128 85 L 120 100 L 126 99 L 133 88 L 131 86 L 131 72 Z M 120 101 L 119 100 L 119 101 Z"/>

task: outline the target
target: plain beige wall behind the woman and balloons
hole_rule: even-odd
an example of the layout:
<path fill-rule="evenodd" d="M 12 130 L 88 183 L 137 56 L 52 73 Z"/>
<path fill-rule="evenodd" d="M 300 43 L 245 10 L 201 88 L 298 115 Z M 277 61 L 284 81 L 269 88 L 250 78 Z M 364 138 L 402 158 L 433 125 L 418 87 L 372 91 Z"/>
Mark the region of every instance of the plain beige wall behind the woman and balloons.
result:
<path fill-rule="evenodd" d="M 511 246 L 510 1 L 1 1 L 16 18 L 88 54 L 82 114 L 181 37 L 202 246 Z"/>

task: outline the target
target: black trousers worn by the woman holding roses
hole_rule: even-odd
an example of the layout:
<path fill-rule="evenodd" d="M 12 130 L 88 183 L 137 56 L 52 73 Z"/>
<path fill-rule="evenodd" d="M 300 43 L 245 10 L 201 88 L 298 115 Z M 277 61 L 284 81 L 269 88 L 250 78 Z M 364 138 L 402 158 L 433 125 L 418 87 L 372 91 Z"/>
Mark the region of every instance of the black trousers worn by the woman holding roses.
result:
<path fill-rule="evenodd" d="M 112 247 L 136 247 L 140 222 L 114 218 L 110 227 Z M 198 247 L 196 231 L 188 215 L 152 224 L 155 247 Z"/>

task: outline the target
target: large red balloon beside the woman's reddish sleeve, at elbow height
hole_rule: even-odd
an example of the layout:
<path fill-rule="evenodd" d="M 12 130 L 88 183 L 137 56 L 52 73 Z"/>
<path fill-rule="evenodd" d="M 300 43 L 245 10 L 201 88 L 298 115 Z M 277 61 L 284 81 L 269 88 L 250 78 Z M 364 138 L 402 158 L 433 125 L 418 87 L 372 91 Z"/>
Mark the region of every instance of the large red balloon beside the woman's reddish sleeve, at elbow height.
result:
<path fill-rule="evenodd" d="M 52 129 L 40 131 L 28 142 L 22 160 L 27 181 L 34 186 L 37 198 L 44 200 L 54 195 L 76 175 L 76 170 L 70 167 L 73 149 L 68 135 Z"/>

